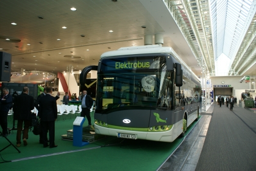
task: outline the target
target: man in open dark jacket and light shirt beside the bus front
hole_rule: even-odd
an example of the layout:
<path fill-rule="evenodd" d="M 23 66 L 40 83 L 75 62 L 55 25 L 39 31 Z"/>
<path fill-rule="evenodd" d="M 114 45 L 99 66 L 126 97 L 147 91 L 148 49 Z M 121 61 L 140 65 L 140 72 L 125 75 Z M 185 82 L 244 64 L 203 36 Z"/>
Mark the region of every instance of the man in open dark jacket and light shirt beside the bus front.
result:
<path fill-rule="evenodd" d="M 93 99 L 91 98 L 91 96 L 87 95 L 87 91 L 84 90 L 82 94 L 82 111 L 80 116 L 87 117 L 89 126 L 91 126 L 90 110 L 92 105 L 93 105 Z"/>

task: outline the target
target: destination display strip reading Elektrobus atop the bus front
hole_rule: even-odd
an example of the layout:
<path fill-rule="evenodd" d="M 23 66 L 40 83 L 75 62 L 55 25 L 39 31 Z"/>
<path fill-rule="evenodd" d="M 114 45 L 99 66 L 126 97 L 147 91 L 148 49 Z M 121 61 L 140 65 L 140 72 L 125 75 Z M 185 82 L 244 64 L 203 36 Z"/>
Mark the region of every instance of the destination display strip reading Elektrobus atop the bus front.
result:
<path fill-rule="evenodd" d="M 162 57 L 124 57 L 104 59 L 101 63 L 101 71 L 137 70 L 137 69 L 159 69 L 160 63 L 165 61 Z M 165 62 L 164 62 L 165 63 Z"/>

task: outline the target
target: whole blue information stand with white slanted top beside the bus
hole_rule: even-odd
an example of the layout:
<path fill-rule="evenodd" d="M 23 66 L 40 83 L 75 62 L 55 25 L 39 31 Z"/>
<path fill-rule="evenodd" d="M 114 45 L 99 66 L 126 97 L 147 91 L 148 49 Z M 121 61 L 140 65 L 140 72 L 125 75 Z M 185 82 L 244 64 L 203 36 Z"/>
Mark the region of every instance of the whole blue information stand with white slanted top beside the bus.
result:
<path fill-rule="evenodd" d="M 76 120 L 73 122 L 73 146 L 82 147 L 89 144 L 89 142 L 82 141 L 83 134 L 83 124 L 85 122 L 84 117 L 76 117 Z"/>

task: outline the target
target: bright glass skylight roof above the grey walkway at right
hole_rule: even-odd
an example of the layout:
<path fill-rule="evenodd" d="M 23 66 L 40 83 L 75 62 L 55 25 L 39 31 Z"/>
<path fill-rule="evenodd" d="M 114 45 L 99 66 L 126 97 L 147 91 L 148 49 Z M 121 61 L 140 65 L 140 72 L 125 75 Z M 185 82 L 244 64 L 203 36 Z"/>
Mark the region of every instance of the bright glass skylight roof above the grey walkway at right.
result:
<path fill-rule="evenodd" d="M 240 43 L 246 33 L 244 32 L 244 27 L 247 26 L 246 22 L 250 22 L 247 21 L 246 18 L 253 1 L 254 0 L 210 0 L 216 75 L 217 72 L 219 74 L 222 73 L 217 69 L 217 65 L 218 63 L 219 65 L 223 63 L 222 60 L 224 58 L 229 58 L 229 60 L 225 62 L 226 66 L 231 65 L 230 63 L 236 55 L 236 49 L 240 47 Z"/>

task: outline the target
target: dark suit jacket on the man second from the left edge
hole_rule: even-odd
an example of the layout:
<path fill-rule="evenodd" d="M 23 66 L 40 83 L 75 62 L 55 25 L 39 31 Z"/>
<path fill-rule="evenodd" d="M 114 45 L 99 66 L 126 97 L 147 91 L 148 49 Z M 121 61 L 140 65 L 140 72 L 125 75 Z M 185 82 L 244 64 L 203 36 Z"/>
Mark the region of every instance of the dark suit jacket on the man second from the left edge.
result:
<path fill-rule="evenodd" d="M 34 110 L 34 98 L 26 93 L 16 96 L 13 103 L 13 114 L 15 119 L 30 120 L 31 110 Z"/>

